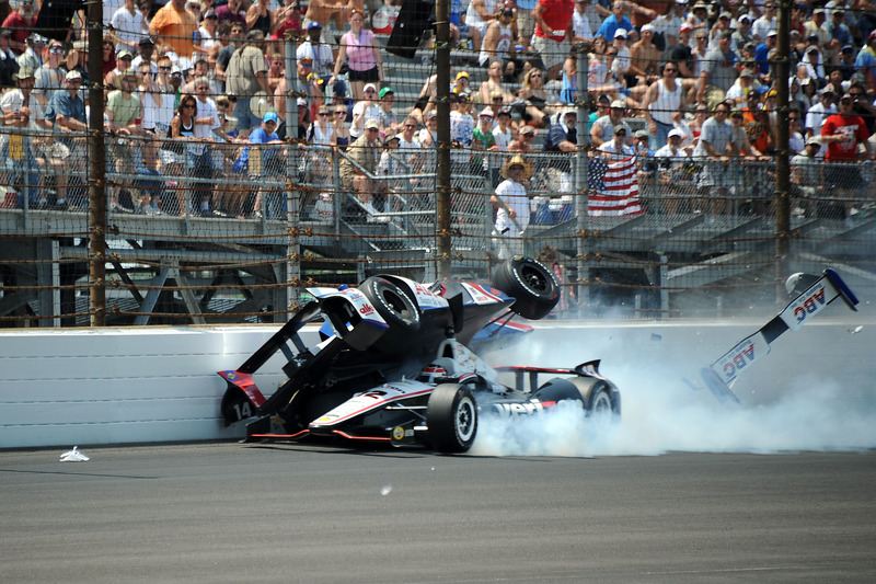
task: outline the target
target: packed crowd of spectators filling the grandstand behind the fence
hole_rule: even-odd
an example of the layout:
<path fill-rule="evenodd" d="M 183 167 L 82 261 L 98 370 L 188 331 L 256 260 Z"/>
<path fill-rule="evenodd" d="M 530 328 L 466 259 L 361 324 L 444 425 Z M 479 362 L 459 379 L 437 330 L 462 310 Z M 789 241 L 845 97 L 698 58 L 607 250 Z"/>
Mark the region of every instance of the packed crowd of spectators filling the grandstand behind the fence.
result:
<path fill-rule="evenodd" d="M 336 169 L 343 188 L 372 220 L 388 220 L 399 205 L 393 194 L 423 185 L 410 176 L 434 172 L 437 141 L 436 76 L 415 103 L 396 102 L 371 30 L 371 16 L 397 14 L 400 4 L 104 0 L 107 170 L 128 176 L 110 185 L 112 208 L 280 214 L 283 202 L 272 204 L 264 183 L 281 180 L 297 141 L 311 146 L 297 149 L 301 181 L 331 182 L 333 152 L 346 152 Z M 39 10 L 38 1 L 13 0 L 0 28 L 8 128 L 0 134 L 0 205 L 10 193 L 21 204 L 27 193 L 31 205 L 82 209 L 81 133 L 88 88 L 97 81 L 88 77 L 87 20 L 78 12 L 68 31 L 46 36 L 34 28 Z M 484 176 L 495 187 L 511 156 L 529 156 L 532 180 L 570 193 L 576 106 L 587 102 L 596 110 L 586 124 L 591 159 L 654 157 L 637 162 L 645 183 L 696 195 L 666 204 L 667 211 L 728 213 L 722 195 L 738 183 L 742 161 L 752 169 L 742 171 L 757 199 L 751 211 L 766 213 L 777 87 L 787 83 L 797 210 L 819 213 L 804 199 L 835 196 L 834 207 L 852 217 L 850 201 L 867 190 L 872 164 L 864 162 L 876 158 L 873 0 L 793 4 L 789 79 L 776 75 L 776 0 L 462 0 L 451 2 L 451 23 L 459 44 L 450 88 L 454 175 Z M 300 37 L 295 71 L 286 70 L 288 32 Z M 589 47 L 586 91 L 578 87 L 580 43 Z M 481 68 L 483 82 L 472 83 Z M 295 100 L 292 121 L 287 100 Z M 537 163 L 539 150 L 557 160 Z M 814 161 L 829 163 L 816 192 L 807 191 Z M 149 179 L 130 179 L 138 174 Z M 235 176 L 261 186 L 219 180 Z M 304 217 L 316 199 L 306 197 Z"/>

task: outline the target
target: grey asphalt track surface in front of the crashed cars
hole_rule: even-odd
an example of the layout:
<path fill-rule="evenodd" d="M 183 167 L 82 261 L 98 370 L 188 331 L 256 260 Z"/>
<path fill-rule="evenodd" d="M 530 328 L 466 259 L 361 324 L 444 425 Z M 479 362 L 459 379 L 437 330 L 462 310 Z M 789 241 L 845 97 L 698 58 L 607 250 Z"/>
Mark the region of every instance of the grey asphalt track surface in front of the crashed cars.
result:
<path fill-rule="evenodd" d="M 863 582 L 876 571 L 873 450 L 59 454 L 0 454 L 7 582 Z"/>

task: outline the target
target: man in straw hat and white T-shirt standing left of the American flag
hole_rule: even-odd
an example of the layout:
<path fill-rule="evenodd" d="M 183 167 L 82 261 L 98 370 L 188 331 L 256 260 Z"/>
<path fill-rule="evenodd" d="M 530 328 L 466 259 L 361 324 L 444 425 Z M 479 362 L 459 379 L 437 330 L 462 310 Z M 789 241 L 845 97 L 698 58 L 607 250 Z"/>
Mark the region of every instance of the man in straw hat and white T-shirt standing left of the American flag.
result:
<path fill-rule="evenodd" d="M 500 238 L 498 257 L 508 260 L 523 255 L 522 239 L 529 226 L 529 195 L 527 184 L 532 178 L 532 165 L 522 156 L 516 154 L 502 167 L 505 178 L 489 198 L 496 209 L 495 231 Z"/>

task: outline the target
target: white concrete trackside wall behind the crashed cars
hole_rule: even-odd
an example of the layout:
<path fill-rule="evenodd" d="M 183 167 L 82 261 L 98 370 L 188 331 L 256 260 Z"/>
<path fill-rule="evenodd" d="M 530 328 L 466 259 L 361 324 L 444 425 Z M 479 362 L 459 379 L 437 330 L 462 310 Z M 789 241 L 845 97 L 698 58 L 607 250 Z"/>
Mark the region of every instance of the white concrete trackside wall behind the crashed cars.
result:
<path fill-rule="evenodd" d="M 769 401 L 795 377 L 814 374 L 855 392 L 876 379 L 876 325 L 831 308 L 787 332 L 735 388 Z M 623 385 L 696 376 L 765 320 L 740 322 L 538 323 L 527 343 L 487 355 L 494 365 L 574 366 L 602 359 Z M 0 448 L 234 438 L 219 404 L 216 371 L 240 366 L 276 327 L 142 328 L 0 332 Z M 311 344 L 315 329 L 304 333 Z M 274 357 L 256 376 L 267 396 L 283 378 Z M 240 424 L 238 426 L 241 426 Z"/>

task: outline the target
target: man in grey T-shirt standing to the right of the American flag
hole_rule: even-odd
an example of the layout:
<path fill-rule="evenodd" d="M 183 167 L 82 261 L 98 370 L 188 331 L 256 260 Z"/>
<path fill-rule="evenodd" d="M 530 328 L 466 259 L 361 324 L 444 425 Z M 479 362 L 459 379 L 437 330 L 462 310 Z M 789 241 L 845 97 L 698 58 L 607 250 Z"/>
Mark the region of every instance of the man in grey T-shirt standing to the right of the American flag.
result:
<path fill-rule="evenodd" d="M 694 213 L 707 214 L 711 206 L 712 215 L 716 216 L 726 214 L 728 186 L 734 183 L 730 172 L 733 125 L 727 121 L 730 113 L 728 103 L 718 103 L 714 113 L 715 115 L 703 124 L 700 139 L 693 150 L 694 158 L 702 161 L 702 169 L 696 181 L 702 198 L 698 208 L 694 208 Z"/>

